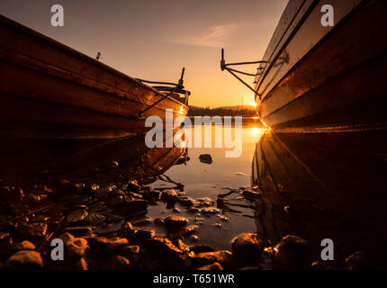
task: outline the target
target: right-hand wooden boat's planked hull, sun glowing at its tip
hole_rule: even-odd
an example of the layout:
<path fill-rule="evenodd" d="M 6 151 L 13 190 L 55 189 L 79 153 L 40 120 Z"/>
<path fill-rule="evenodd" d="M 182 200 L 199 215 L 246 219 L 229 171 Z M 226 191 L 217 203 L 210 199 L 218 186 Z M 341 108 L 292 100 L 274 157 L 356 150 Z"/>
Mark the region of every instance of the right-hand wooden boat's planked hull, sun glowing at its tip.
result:
<path fill-rule="evenodd" d="M 387 122 L 387 3 L 331 1 L 334 27 L 323 4 L 288 4 L 266 49 L 257 113 L 274 129 Z"/>

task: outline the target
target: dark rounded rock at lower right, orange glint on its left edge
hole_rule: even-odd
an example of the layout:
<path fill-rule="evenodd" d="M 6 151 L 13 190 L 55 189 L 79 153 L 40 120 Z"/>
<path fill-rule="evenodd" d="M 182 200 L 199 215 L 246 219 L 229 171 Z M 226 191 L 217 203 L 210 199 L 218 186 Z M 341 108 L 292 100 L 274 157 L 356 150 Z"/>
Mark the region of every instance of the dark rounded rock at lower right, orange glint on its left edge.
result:
<path fill-rule="evenodd" d="M 310 246 L 303 238 L 288 235 L 275 247 L 275 269 L 299 269 L 305 264 Z"/>

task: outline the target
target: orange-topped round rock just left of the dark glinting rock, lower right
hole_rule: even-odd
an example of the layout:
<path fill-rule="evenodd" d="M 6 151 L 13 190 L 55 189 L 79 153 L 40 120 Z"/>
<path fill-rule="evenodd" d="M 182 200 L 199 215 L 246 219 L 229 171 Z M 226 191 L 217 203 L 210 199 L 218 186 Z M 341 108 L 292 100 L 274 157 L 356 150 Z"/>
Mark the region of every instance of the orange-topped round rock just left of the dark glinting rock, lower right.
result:
<path fill-rule="evenodd" d="M 263 240 L 256 233 L 242 233 L 231 241 L 232 252 L 238 263 L 257 264 L 263 250 Z"/>

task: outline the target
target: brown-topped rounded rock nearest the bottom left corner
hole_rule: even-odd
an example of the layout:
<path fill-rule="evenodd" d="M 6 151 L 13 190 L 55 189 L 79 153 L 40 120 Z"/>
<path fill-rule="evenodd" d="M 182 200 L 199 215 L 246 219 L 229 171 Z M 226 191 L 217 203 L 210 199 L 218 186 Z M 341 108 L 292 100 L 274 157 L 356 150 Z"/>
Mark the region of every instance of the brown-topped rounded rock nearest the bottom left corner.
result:
<path fill-rule="evenodd" d="M 43 267 L 43 259 L 39 252 L 23 250 L 9 257 L 5 263 L 8 269 L 39 269 Z"/>

